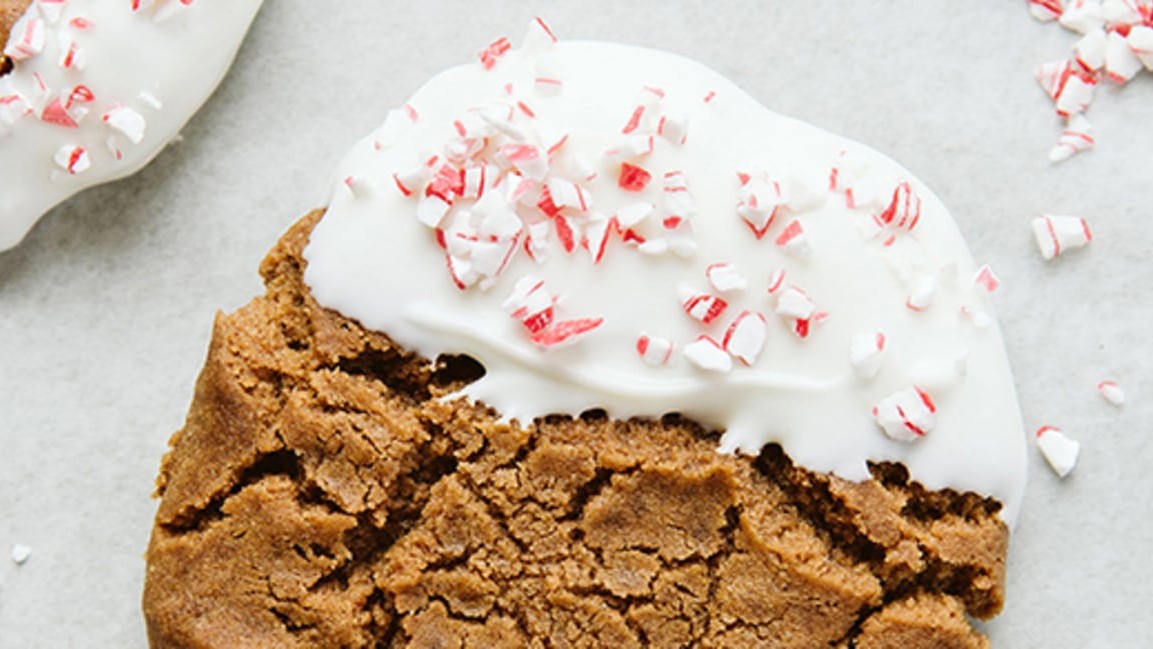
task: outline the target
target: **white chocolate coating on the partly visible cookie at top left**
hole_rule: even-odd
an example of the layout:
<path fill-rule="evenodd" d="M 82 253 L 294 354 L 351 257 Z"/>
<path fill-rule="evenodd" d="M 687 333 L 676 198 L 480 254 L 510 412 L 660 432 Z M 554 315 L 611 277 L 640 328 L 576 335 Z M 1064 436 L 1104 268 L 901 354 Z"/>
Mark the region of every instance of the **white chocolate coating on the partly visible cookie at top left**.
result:
<path fill-rule="evenodd" d="M 224 77 L 261 2 L 142 0 L 134 10 L 131 0 L 33 0 L 8 46 L 36 20 L 40 51 L 0 77 L 0 250 L 58 203 L 136 172 L 176 137 Z M 77 86 L 91 100 L 83 91 L 73 100 L 75 127 L 42 119 Z M 115 108 L 127 108 L 120 129 L 104 119 Z M 70 173 L 61 151 L 77 146 L 86 168 Z"/>

